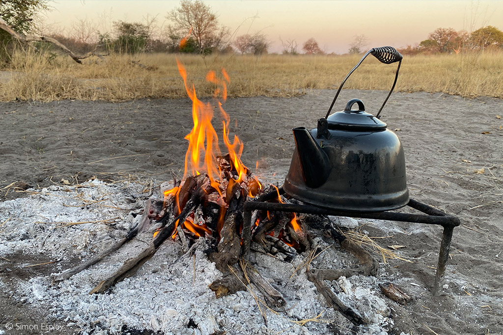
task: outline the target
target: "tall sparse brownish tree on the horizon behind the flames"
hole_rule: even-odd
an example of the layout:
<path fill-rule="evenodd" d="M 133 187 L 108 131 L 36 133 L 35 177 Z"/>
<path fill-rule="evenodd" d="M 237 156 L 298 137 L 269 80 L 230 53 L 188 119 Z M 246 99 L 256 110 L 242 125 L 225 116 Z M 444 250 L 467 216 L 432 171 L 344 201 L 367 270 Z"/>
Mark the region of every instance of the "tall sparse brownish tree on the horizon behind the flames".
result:
<path fill-rule="evenodd" d="M 169 27 L 171 37 L 182 39 L 190 32 L 199 53 L 223 47 L 224 39 L 229 35 L 229 30 L 218 24 L 211 7 L 201 0 L 182 0 L 180 7 L 169 12 L 166 18 L 174 23 Z"/>

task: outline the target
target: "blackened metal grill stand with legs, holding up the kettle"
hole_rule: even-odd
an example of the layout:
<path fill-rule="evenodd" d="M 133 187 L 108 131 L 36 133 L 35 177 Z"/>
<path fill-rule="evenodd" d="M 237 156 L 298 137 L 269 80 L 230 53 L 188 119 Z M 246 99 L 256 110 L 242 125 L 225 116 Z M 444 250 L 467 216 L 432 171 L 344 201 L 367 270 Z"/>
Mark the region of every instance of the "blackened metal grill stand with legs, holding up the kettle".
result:
<path fill-rule="evenodd" d="M 280 194 L 284 194 L 283 188 L 280 188 Z M 356 212 L 356 211 L 344 211 L 344 210 L 334 210 L 328 208 L 317 207 L 313 205 L 300 205 L 300 204 L 289 204 L 289 203 L 276 203 L 267 202 L 278 196 L 276 190 L 265 193 L 253 200 L 246 201 L 244 203 L 244 217 L 243 217 L 243 245 L 242 254 L 244 258 L 247 258 L 251 242 L 251 212 L 253 210 L 272 210 L 272 211 L 283 211 L 283 212 L 296 212 L 296 213 L 306 213 L 306 214 L 318 214 L 318 215 L 333 215 L 333 216 L 348 216 L 357 218 L 371 218 L 378 220 L 389 220 L 389 221 L 401 221 L 401 222 L 416 222 L 419 224 L 427 225 L 438 225 L 444 228 L 442 242 L 440 244 L 439 260 L 437 266 L 437 273 L 435 275 L 435 285 L 433 287 L 433 295 L 440 295 L 440 291 L 445 283 L 445 270 L 447 267 L 447 260 L 449 258 L 449 249 L 451 247 L 452 233 L 454 228 L 460 225 L 459 218 L 448 215 L 436 208 L 433 208 L 427 204 L 421 203 L 419 201 L 410 199 L 407 206 L 412 207 L 424 214 L 408 214 L 408 213 L 397 213 L 392 211 L 382 211 L 382 212 Z"/>

